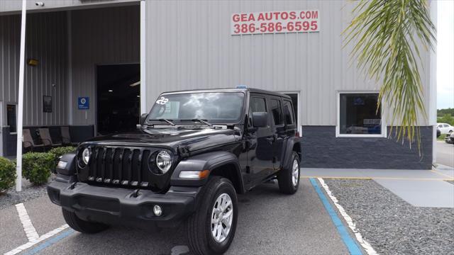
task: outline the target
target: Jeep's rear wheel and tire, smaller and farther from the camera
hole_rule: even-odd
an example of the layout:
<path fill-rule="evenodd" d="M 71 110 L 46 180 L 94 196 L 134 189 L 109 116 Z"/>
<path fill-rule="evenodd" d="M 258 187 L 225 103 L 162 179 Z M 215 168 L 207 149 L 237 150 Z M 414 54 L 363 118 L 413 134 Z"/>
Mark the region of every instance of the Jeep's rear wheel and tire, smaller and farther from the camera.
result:
<path fill-rule="evenodd" d="M 299 156 L 297 152 L 292 152 L 292 162 L 289 162 L 287 168 L 282 169 L 277 176 L 279 191 L 284 194 L 294 194 L 298 191 L 299 186 Z M 294 167 L 297 169 L 295 170 Z M 295 172 L 297 171 L 297 173 Z"/>

